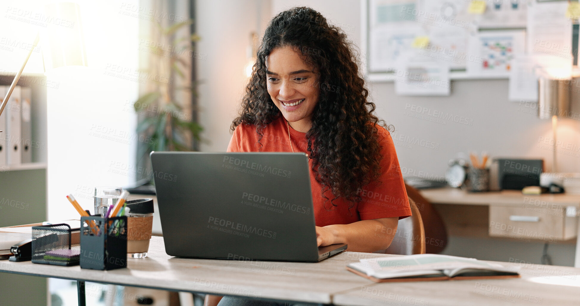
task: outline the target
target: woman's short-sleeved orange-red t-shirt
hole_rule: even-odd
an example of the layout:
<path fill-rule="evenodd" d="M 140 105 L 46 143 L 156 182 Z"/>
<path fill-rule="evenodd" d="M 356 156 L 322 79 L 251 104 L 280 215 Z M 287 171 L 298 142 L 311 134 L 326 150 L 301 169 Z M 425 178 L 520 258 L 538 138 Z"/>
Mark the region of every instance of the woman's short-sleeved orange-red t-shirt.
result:
<path fill-rule="evenodd" d="M 289 127 L 294 152 L 307 152 L 306 133 L 296 131 Z M 292 152 L 290 146 L 286 121 L 282 116 L 263 129 L 263 136 L 260 139 L 262 147 L 258 143 L 259 135 L 253 125 L 240 124 L 235 128 L 231 137 L 227 152 Z M 411 215 L 407 190 L 403 182 L 403 175 L 399 167 L 397 153 L 393 144 L 393 139 L 389 131 L 378 126 L 378 139 L 382 146 L 380 152 L 383 159 L 380 161 L 381 175 L 379 182 L 371 182 L 361 188 L 360 197 L 362 201 L 355 204 L 349 210 L 350 203 L 339 198 L 334 201 L 337 206 L 332 206 L 330 200 L 332 193 L 327 190 L 325 195 L 329 200 L 322 197 L 322 185 L 314 178 L 311 162 L 310 164 L 310 185 L 312 190 L 312 200 L 314 204 L 314 218 L 317 226 L 331 224 L 351 224 L 353 222 L 399 217 L 405 218 Z"/>

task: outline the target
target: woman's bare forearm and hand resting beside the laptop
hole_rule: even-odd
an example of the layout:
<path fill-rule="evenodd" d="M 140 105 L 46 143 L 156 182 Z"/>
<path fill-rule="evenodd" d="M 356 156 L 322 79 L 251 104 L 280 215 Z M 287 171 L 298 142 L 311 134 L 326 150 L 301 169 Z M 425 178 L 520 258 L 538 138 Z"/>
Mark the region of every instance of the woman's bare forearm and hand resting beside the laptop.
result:
<path fill-rule="evenodd" d="M 349 245 L 348 251 L 374 252 L 390 246 L 397 232 L 397 224 L 398 218 L 394 217 L 327 225 L 322 229 L 332 234 L 328 244 L 346 243 Z"/>

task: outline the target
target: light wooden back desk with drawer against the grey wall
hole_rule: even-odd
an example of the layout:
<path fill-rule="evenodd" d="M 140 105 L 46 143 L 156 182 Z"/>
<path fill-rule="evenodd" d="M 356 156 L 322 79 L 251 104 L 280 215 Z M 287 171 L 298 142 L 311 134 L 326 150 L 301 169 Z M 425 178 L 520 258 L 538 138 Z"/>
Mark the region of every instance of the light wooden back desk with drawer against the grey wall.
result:
<path fill-rule="evenodd" d="M 421 194 L 437 208 L 450 236 L 575 242 L 574 266 L 580 267 L 580 195 L 522 195 L 517 190 L 473 193 L 450 187 L 423 189 Z"/>

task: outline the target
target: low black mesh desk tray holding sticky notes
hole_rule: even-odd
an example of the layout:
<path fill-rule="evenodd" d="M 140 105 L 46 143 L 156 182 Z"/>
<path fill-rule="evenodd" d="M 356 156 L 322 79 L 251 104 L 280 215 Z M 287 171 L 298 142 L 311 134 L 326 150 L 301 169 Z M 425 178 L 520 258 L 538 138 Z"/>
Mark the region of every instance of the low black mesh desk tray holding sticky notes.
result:
<path fill-rule="evenodd" d="M 78 265 L 79 229 L 68 224 L 32 226 L 32 262 L 34 264 Z"/>

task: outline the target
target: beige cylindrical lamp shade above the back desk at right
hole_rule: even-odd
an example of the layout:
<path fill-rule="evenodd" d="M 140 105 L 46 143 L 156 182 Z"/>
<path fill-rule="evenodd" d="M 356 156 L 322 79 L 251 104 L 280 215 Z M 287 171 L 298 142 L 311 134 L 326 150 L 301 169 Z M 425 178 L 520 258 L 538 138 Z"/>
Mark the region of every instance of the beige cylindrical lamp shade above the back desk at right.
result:
<path fill-rule="evenodd" d="M 538 116 L 568 116 L 570 113 L 570 80 L 538 79 Z"/>

